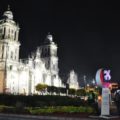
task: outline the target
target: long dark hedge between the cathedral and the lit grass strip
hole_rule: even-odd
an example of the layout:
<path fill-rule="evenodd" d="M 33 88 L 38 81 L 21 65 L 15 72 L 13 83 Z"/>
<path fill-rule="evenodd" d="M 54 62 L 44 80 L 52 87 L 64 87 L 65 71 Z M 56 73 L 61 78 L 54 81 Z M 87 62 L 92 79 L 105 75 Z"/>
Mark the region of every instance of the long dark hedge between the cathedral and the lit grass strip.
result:
<path fill-rule="evenodd" d="M 0 95 L 0 104 L 5 106 L 17 107 L 19 104 L 29 107 L 44 107 L 44 106 L 85 106 L 86 102 L 80 98 L 71 98 L 68 96 L 53 96 L 53 95 Z M 18 104 L 18 105 L 17 105 Z M 20 107 L 20 106 L 19 106 Z M 20 108 L 22 109 L 22 108 Z"/>

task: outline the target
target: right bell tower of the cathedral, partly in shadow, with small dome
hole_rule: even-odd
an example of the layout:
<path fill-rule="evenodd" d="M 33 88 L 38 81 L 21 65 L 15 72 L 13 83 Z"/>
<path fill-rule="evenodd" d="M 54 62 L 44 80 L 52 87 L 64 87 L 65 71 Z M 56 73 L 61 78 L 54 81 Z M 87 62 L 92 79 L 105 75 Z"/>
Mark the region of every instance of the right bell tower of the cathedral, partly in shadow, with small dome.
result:
<path fill-rule="evenodd" d="M 46 36 L 44 45 L 41 46 L 41 57 L 45 61 L 46 68 L 51 74 L 51 85 L 53 85 L 53 80 L 58 77 L 58 57 L 57 57 L 57 45 L 53 42 L 53 36 L 48 34 Z"/>

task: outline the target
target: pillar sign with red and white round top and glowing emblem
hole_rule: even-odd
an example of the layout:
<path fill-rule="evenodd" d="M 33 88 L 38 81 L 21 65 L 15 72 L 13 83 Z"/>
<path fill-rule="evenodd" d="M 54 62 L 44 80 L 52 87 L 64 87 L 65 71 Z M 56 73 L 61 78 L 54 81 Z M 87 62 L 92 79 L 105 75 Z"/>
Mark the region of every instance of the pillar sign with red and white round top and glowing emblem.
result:
<path fill-rule="evenodd" d="M 110 70 L 99 69 L 96 73 L 96 84 L 102 88 L 102 101 L 101 101 L 101 116 L 110 115 L 110 80 L 111 74 Z"/>

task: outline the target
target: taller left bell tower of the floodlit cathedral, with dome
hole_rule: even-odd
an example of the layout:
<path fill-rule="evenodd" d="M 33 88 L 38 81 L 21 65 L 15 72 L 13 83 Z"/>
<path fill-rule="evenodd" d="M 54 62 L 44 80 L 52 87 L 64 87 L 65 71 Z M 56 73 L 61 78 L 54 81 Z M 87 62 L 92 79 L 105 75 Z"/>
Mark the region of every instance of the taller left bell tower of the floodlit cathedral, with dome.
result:
<path fill-rule="evenodd" d="M 19 29 L 8 6 L 0 20 L 0 93 L 5 89 L 8 68 L 19 61 Z"/>

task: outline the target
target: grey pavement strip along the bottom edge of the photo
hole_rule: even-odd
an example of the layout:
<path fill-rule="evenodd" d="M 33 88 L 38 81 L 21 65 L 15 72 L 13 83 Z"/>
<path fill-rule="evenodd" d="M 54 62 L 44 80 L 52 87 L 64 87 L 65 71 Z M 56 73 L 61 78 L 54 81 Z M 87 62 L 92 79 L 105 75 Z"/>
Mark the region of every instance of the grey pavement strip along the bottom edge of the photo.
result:
<path fill-rule="evenodd" d="M 100 118 L 99 116 L 33 116 L 0 113 L 0 120 L 120 120 L 120 117 Z"/>

